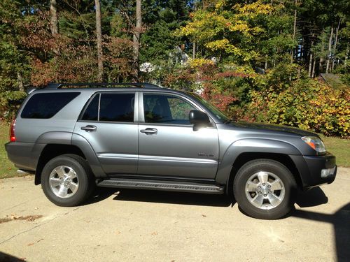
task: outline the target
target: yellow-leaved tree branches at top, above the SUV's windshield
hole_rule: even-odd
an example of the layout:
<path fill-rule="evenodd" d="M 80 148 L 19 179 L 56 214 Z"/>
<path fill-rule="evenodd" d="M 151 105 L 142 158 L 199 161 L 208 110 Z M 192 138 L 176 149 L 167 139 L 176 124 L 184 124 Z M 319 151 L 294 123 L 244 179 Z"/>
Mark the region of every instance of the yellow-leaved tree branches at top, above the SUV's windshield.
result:
<path fill-rule="evenodd" d="M 253 39 L 264 32 L 258 20 L 267 17 L 273 7 L 260 0 L 230 8 L 231 4 L 218 1 L 214 8 L 197 10 L 176 34 L 204 46 L 208 55 L 232 55 L 241 63 L 257 59 Z"/>

